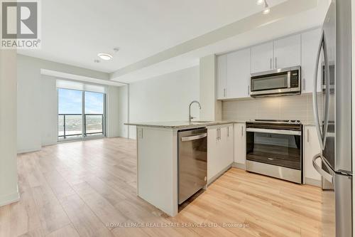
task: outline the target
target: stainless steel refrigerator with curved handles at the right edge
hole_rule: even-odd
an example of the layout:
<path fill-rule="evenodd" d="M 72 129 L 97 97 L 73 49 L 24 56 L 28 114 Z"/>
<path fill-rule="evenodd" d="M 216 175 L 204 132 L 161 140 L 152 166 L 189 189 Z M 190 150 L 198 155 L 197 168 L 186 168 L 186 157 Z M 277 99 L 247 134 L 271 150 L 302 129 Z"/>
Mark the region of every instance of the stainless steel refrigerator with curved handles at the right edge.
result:
<path fill-rule="evenodd" d="M 321 87 L 317 89 L 317 80 Z M 352 236 L 351 0 L 334 0 L 322 26 L 313 110 L 322 175 L 322 236 Z M 318 87 L 319 88 L 319 87 Z"/>

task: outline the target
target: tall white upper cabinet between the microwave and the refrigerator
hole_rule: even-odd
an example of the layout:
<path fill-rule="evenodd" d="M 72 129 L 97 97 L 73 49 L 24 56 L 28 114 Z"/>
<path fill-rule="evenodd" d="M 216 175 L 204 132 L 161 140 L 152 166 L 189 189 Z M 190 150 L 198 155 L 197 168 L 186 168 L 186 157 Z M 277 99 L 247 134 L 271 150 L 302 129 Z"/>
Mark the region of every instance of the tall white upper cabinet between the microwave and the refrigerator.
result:
<path fill-rule="evenodd" d="M 320 28 L 302 33 L 302 93 L 312 93 L 314 88 L 315 60 L 320 44 Z M 320 69 L 317 90 L 320 91 Z"/>

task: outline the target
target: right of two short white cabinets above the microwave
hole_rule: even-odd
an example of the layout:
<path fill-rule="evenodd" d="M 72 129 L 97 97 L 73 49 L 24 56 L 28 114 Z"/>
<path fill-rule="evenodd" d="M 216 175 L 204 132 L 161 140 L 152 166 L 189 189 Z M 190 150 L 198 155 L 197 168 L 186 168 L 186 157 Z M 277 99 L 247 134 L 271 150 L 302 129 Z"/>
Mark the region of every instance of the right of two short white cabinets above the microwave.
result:
<path fill-rule="evenodd" d="M 295 35 L 273 41 L 274 69 L 301 65 L 301 36 Z"/>

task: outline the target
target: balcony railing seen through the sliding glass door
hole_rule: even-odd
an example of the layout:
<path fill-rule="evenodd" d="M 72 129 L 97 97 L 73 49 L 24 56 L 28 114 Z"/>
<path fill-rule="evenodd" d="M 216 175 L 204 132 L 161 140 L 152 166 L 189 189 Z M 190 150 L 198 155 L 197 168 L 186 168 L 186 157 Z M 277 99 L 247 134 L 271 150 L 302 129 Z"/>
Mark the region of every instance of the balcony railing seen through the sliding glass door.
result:
<path fill-rule="evenodd" d="M 104 135 L 103 114 L 58 114 L 58 139 Z"/>

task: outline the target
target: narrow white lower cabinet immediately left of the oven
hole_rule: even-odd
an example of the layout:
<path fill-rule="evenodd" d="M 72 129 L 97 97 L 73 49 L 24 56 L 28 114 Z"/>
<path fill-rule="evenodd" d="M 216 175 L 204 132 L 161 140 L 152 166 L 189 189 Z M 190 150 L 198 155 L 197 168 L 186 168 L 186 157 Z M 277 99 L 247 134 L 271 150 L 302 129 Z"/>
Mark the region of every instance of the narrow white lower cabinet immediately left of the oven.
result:
<path fill-rule="evenodd" d="M 245 123 L 234 124 L 234 162 L 236 163 L 236 167 L 245 169 L 245 163 L 246 163 Z"/>

